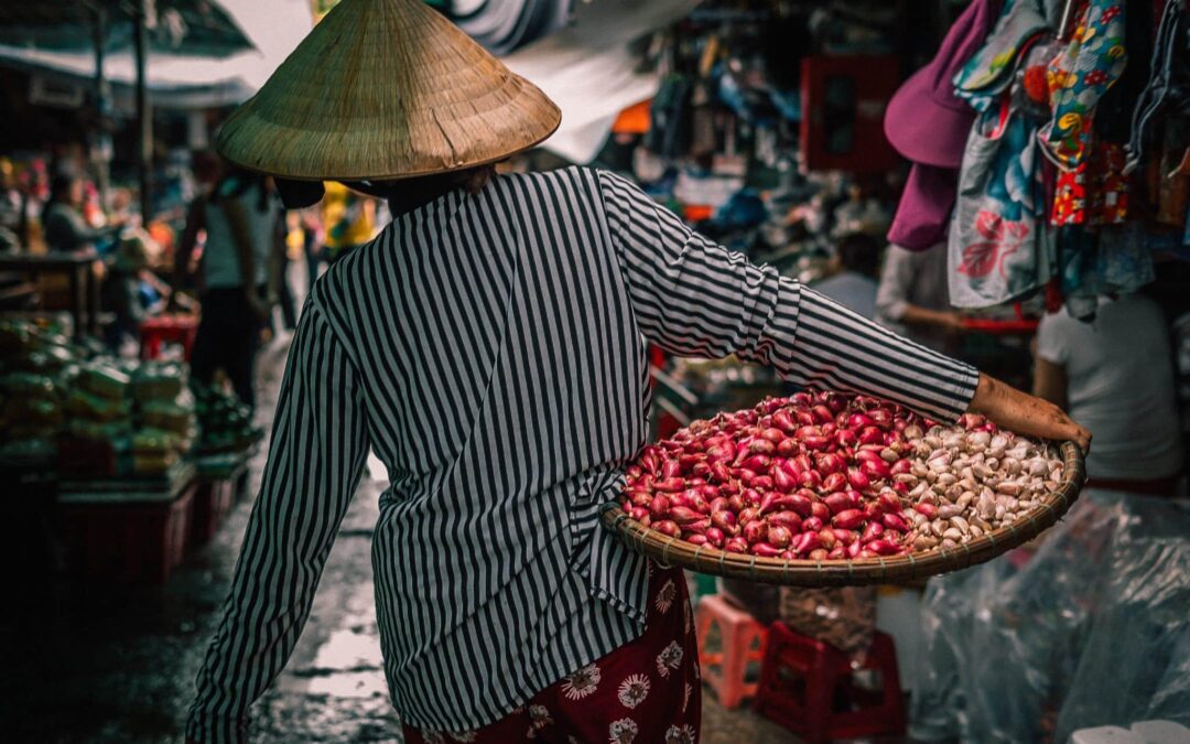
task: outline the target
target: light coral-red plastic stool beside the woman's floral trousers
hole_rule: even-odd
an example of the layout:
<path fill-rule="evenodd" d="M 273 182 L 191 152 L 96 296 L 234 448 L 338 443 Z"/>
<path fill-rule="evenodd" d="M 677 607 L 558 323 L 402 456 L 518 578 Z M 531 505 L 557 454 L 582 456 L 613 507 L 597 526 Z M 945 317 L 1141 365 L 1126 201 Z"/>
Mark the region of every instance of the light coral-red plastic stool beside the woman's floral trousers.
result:
<path fill-rule="evenodd" d="M 731 605 L 720 594 L 699 600 L 695 611 L 699 638 L 699 664 L 702 681 L 715 690 L 719 702 L 727 709 L 740 707 L 744 698 L 756 696 L 758 684 L 747 682 L 749 662 L 764 658 L 765 631 L 756 618 Z M 720 651 L 707 651 L 707 637 L 719 626 Z M 753 649 L 752 644 L 757 643 Z"/>

